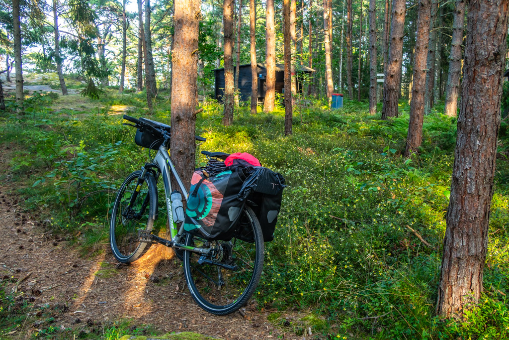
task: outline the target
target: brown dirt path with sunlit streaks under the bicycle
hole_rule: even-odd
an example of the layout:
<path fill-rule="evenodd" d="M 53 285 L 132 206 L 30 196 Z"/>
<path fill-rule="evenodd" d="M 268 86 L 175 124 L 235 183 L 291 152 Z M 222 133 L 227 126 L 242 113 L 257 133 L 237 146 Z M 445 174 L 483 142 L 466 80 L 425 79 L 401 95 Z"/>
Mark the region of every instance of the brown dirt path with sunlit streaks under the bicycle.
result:
<path fill-rule="evenodd" d="M 2 156 L 0 169 L 7 169 Z M 252 305 L 245 307 L 245 317 L 239 312 L 217 317 L 203 311 L 188 293 L 180 261 L 155 259 L 160 252 L 155 246 L 129 266 L 117 264 L 107 244 L 98 245 L 102 250 L 97 256 L 80 257 L 47 231 L 48 221 L 23 211 L 23 199 L 11 194 L 14 186 L 9 180 L 0 183 L 0 277 L 11 277 L 9 293 L 22 279 L 14 295 L 24 292 L 24 299 L 34 303 L 29 316 L 52 310 L 54 327 L 76 332 L 129 318 L 162 331 L 195 331 L 224 339 L 302 338 L 278 331 L 266 319 L 269 312 L 258 312 Z M 37 322 L 27 320 L 32 321 L 11 336 L 25 338 L 38 331 Z"/>

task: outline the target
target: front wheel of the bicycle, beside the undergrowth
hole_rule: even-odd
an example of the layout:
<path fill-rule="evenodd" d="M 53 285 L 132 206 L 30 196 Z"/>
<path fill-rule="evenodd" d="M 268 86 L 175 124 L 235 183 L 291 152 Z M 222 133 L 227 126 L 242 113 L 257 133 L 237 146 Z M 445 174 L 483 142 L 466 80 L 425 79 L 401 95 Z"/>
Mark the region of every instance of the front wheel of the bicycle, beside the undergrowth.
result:
<path fill-rule="evenodd" d="M 150 243 L 141 242 L 138 232 L 151 232 L 157 214 L 156 182 L 146 174 L 140 187 L 138 178 L 142 171 L 131 173 L 120 187 L 113 205 L 109 226 L 111 250 L 121 263 L 131 263 L 150 248 Z M 131 197 L 137 193 L 136 199 Z"/>

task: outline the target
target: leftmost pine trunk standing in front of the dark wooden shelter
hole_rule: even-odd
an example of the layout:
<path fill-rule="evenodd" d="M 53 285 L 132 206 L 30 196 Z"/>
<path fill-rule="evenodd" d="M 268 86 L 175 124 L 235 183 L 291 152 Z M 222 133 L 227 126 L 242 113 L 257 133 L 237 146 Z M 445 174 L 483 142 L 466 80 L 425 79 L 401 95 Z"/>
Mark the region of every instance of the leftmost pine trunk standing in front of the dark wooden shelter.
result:
<path fill-rule="evenodd" d="M 224 125 L 233 123 L 234 80 L 233 80 L 233 12 L 235 0 L 223 1 L 223 31 L 224 31 L 224 110 L 222 122 Z"/>

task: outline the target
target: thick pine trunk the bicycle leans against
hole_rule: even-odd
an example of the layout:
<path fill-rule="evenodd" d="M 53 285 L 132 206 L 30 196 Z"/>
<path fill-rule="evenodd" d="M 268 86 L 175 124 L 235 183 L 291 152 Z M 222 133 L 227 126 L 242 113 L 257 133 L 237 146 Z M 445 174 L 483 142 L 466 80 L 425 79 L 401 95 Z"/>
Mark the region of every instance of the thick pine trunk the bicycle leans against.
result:
<path fill-rule="evenodd" d="M 172 85 L 172 160 L 184 187 L 195 168 L 196 73 L 200 0 L 175 0 L 175 44 Z"/>

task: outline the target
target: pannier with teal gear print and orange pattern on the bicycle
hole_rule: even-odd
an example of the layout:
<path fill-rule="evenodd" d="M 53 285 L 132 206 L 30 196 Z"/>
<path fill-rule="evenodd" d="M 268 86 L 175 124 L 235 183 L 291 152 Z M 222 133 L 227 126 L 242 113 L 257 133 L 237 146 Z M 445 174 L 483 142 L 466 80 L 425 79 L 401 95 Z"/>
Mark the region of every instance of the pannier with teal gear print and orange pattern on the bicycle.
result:
<path fill-rule="evenodd" d="M 207 177 L 196 170 L 186 206 L 184 230 L 206 240 L 230 241 L 245 200 L 238 198 L 247 169 L 232 166 Z"/>

